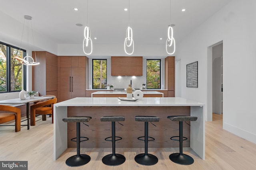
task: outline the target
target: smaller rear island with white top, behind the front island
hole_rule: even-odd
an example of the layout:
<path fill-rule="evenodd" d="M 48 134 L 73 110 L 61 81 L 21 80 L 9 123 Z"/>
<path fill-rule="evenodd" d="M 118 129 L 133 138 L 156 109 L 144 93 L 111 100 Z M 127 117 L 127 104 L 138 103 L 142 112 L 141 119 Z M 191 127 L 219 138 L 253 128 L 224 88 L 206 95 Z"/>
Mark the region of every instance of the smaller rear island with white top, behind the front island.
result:
<path fill-rule="evenodd" d="M 156 91 L 142 91 L 143 97 L 164 97 L 164 94 Z M 134 91 L 132 92 L 134 93 Z M 126 97 L 126 91 L 98 91 L 93 92 L 92 97 Z"/>

